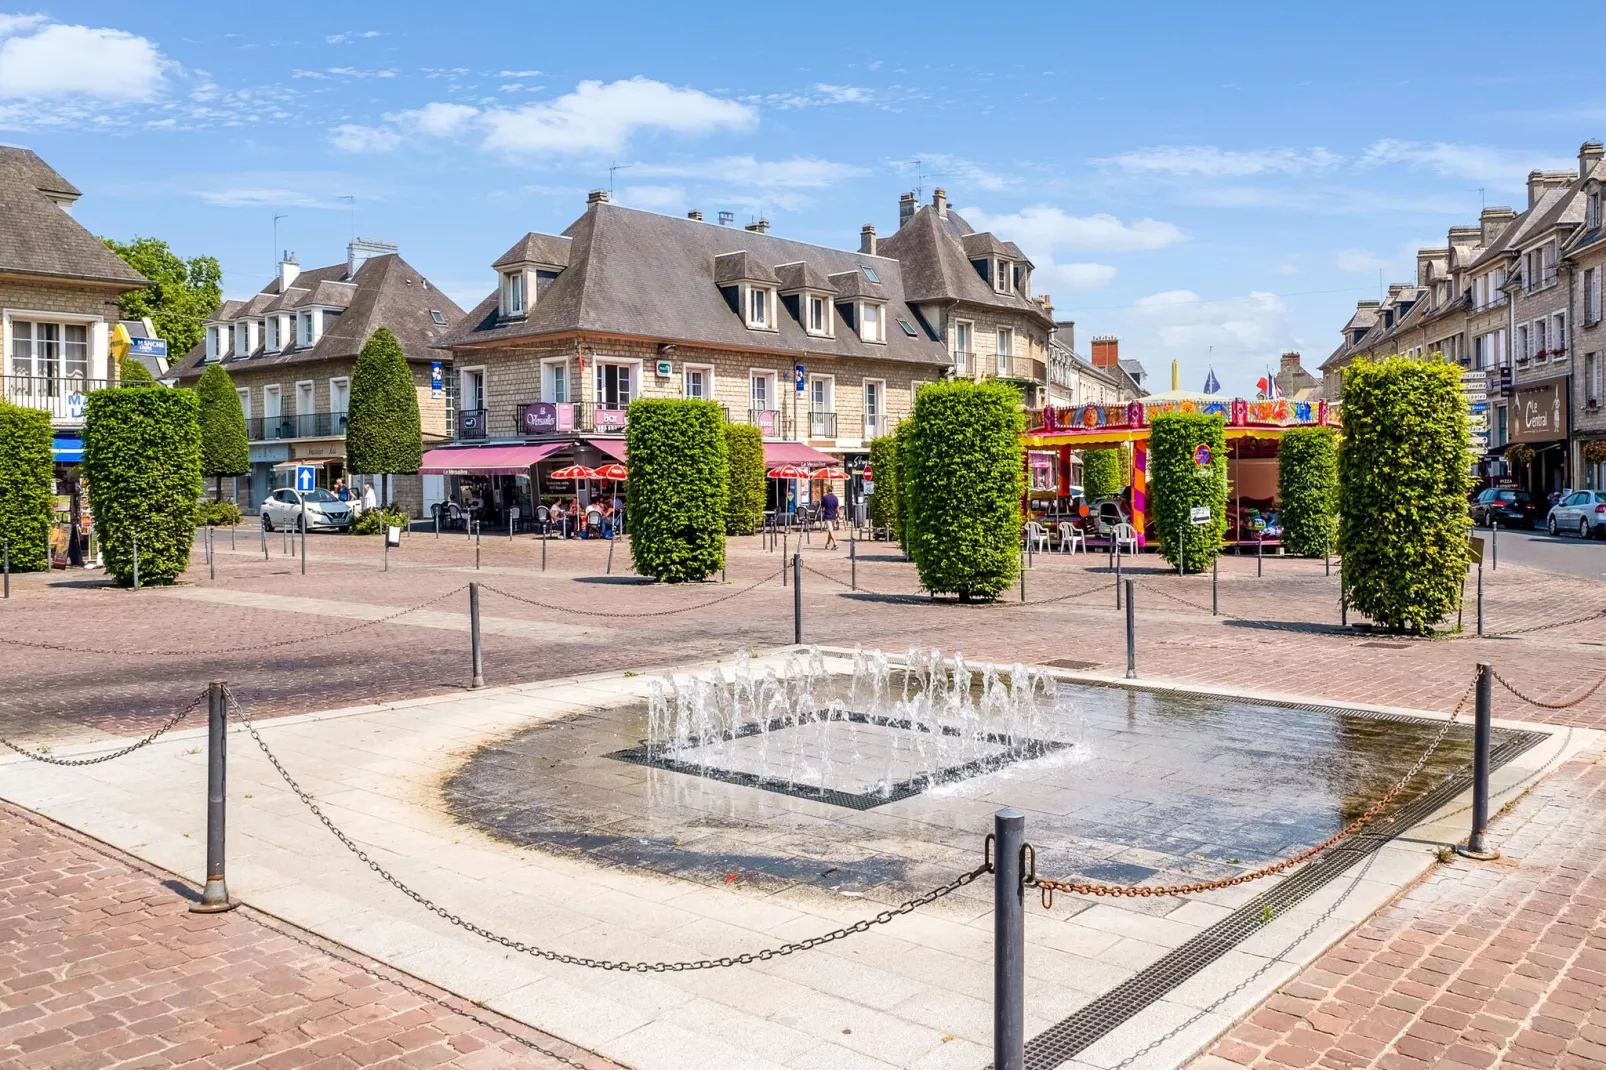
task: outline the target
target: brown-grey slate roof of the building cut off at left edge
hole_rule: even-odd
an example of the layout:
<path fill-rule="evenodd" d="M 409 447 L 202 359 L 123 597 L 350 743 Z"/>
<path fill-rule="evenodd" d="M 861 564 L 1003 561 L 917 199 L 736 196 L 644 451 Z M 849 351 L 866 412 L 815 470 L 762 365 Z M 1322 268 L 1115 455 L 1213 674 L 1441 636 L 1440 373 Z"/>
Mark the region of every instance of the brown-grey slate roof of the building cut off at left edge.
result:
<path fill-rule="evenodd" d="M 31 149 L 0 146 L 0 272 L 124 283 L 124 289 L 148 284 L 47 193 L 79 196 Z"/>

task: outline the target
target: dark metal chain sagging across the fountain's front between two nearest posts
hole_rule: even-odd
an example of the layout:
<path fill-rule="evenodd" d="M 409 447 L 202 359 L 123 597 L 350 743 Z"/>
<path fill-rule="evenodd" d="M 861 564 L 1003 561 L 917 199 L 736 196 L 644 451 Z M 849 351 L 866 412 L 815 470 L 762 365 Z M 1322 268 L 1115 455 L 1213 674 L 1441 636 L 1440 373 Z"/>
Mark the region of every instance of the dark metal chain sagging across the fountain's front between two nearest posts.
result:
<path fill-rule="evenodd" d="M 503 937 L 499 933 L 491 932 L 490 929 L 485 929 L 483 925 L 477 925 L 477 924 L 474 924 L 471 921 L 464 921 L 461 916 L 453 914 L 445 906 L 440 906 L 438 903 L 435 903 L 429 896 L 426 896 L 426 895 L 422 895 L 419 892 L 414 892 L 406 884 L 403 884 L 398 877 L 395 877 L 393 874 L 390 874 L 390 871 L 387 871 L 384 866 L 381 866 L 373 858 L 369 858 L 368 852 L 365 852 L 361 847 L 358 847 L 345 832 L 342 832 L 329 819 L 329 816 L 323 811 L 323 808 L 320 808 L 318 803 L 313 802 L 313 797 L 305 789 L 302 789 L 302 786 L 296 782 L 296 778 L 292 778 L 289 774 L 289 771 L 279 763 L 278 755 L 275 755 L 273 750 L 268 749 L 267 741 L 262 737 L 260 733 L 257 733 L 257 726 L 239 709 L 239 704 L 234 700 L 233 692 L 225 692 L 225 694 L 228 696 L 228 710 L 230 710 L 230 715 L 234 717 L 241 725 L 244 725 L 246 731 L 251 733 L 251 737 L 255 741 L 257 747 L 262 749 L 262 753 L 268 758 L 268 762 L 278 771 L 279 778 L 283 778 L 283 781 L 289 786 L 289 789 L 296 794 L 296 797 L 300 798 L 302 803 L 305 803 L 308 810 L 312 810 L 313 816 L 318 818 L 318 821 L 323 824 L 323 827 L 326 827 L 334 835 L 334 839 L 337 839 L 340 842 L 340 845 L 345 847 L 345 850 L 349 850 L 353 855 L 357 855 L 358 861 L 361 861 L 365 866 L 368 866 L 369 869 L 373 869 L 374 874 L 379 876 L 381 880 L 384 880 L 392 888 L 395 888 L 397 892 L 403 893 L 405 896 L 408 896 L 410 900 L 413 900 L 414 903 L 418 903 L 424 909 L 427 909 L 430 914 L 435 914 L 437 917 L 451 922 L 458 929 L 471 932 L 475 937 L 480 937 L 482 940 L 488 940 L 490 943 L 495 943 L 495 945 L 499 945 L 503 948 L 507 948 L 509 951 L 519 951 L 520 954 L 532 954 L 532 956 L 536 956 L 536 958 L 541 958 L 541 959 L 548 959 L 549 962 L 562 962 L 565 966 L 585 966 L 585 967 L 601 969 L 601 970 L 620 970 L 620 972 L 626 972 L 626 974 L 666 974 L 666 972 L 681 974 L 681 972 L 687 972 L 687 970 L 710 970 L 710 969 L 719 969 L 719 967 L 726 967 L 726 966 L 750 966 L 753 962 L 768 962 L 769 959 L 774 959 L 774 958 L 793 954 L 797 951 L 809 951 L 809 950 L 817 948 L 821 945 L 834 943 L 837 940 L 843 940 L 843 938 L 851 937 L 854 933 L 869 932 L 874 925 L 885 925 L 887 922 L 893 921 L 895 917 L 901 917 L 903 914 L 909 914 L 911 911 L 914 911 L 914 909 L 917 909 L 920 906 L 927 906 L 930 903 L 935 903 L 936 900 L 943 898 L 944 895 L 952 895 L 954 892 L 957 892 L 959 888 L 962 888 L 967 884 L 973 882 L 976 877 L 980 877 L 984 872 L 993 872 L 993 863 L 991 861 L 984 861 L 980 866 L 976 866 L 975 869 L 972 869 L 970 872 L 962 872 L 957 877 L 954 877 L 952 880 L 949 880 L 948 884 L 940 885 L 936 888 L 931 888 L 925 895 L 920 895 L 920 896 L 915 896 L 915 898 L 907 900 L 904 903 L 899 903 L 898 906 L 888 908 L 888 909 L 882 911 L 880 914 L 875 914 L 874 917 L 864 917 L 864 919 L 859 919 L 859 921 L 853 922 L 851 925 L 843 925 L 842 929 L 834 929 L 834 930 L 830 930 L 830 932 L 827 932 L 824 935 L 819 935 L 819 937 L 809 937 L 808 940 L 795 940 L 792 943 L 784 943 L 784 945 L 781 945 L 777 948 L 764 948 L 763 951 L 745 951 L 742 954 L 728 954 L 728 956 L 723 956 L 723 958 L 718 958 L 718 959 L 692 959 L 692 961 L 683 961 L 683 962 L 626 962 L 626 961 L 618 961 L 618 959 L 591 959 L 591 958 L 578 956 L 578 954 L 564 954 L 560 951 L 551 951 L 548 948 L 538 948 L 535 945 L 524 943 L 522 940 L 512 940 L 509 937 Z"/>

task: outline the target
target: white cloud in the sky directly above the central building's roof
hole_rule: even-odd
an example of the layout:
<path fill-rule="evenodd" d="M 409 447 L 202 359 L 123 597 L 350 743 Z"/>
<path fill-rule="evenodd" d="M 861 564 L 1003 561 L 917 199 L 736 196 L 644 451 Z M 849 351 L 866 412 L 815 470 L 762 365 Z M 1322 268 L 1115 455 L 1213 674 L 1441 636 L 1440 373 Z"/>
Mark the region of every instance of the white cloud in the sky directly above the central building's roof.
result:
<path fill-rule="evenodd" d="M 522 108 L 496 108 L 483 116 L 485 148 L 509 153 L 618 153 L 641 132 L 707 135 L 747 130 L 758 112 L 702 90 L 644 77 L 581 82 L 573 93 Z"/>

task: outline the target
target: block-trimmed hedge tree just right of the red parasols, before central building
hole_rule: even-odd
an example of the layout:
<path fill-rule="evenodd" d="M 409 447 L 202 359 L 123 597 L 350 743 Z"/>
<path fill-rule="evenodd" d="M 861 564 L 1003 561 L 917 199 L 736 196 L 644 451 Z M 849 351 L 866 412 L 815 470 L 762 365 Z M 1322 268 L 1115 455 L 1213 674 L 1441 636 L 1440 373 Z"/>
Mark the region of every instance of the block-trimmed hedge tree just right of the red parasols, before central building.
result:
<path fill-rule="evenodd" d="M 636 572 L 683 583 L 705 580 L 724 567 L 728 450 L 724 413 L 713 402 L 630 403 L 625 506 Z"/>

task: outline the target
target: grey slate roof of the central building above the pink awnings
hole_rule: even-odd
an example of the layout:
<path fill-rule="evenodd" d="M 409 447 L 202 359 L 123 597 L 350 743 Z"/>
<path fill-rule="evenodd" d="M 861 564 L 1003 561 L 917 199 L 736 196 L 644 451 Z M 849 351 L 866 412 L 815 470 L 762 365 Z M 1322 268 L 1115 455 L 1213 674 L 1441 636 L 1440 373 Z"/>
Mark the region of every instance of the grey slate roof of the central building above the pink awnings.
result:
<path fill-rule="evenodd" d="M 763 268 L 771 276 L 779 276 L 777 267 L 798 262 L 825 278 L 862 276 L 869 265 L 882 280 L 877 296 L 885 296 L 887 321 L 903 318 L 923 328 L 904 294 L 901 267 L 885 257 L 601 201 L 588 204 L 564 236 L 572 239 L 569 267 L 524 318 L 501 318 L 498 294 L 491 292 L 437 347 L 597 331 L 678 344 L 951 363 L 946 345 L 925 329 L 917 329 L 915 337 L 893 329 L 885 344 L 862 342 L 840 310 L 835 337 L 806 334 L 787 312 L 777 318 L 779 329 L 750 331 L 715 276 L 715 262 L 726 254 L 744 254 L 742 272 Z"/>

